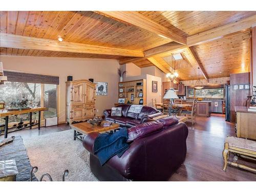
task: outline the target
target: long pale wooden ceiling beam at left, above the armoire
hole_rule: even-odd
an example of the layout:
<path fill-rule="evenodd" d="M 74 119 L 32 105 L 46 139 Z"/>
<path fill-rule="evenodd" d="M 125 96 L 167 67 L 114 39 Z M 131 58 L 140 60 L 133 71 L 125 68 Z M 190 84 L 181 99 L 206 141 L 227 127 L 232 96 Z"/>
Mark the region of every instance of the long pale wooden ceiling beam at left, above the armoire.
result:
<path fill-rule="evenodd" d="M 0 33 L 0 47 L 144 57 L 143 52 L 138 50 L 118 49 L 65 41 L 59 42 L 58 40 L 13 35 L 8 33 Z"/>

